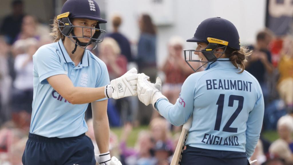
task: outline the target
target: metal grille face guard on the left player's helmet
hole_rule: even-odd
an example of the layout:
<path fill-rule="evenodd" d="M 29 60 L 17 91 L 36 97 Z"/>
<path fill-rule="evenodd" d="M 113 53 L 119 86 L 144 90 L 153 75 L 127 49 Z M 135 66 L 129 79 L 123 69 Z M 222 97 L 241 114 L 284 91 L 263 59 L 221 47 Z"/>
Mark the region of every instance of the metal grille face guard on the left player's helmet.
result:
<path fill-rule="evenodd" d="M 58 19 L 58 27 L 62 35 L 69 37 L 69 39 L 74 42 L 77 46 L 87 49 L 87 50 L 93 50 L 97 47 L 97 44 L 99 42 L 102 42 L 105 36 L 106 31 L 100 29 L 99 23 L 97 23 L 95 28 L 90 27 L 84 27 L 84 26 L 74 26 L 72 25 L 70 19 L 69 19 L 69 12 L 60 14 L 57 16 Z M 75 36 L 74 34 L 74 28 L 82 28 L 82 36 Z M 91 37 L 84 36 L 84 28 L 88 28 L 91 31 Z M 95 31 L 93 34 L 93 30 Z M 78 40 L 78 38 L 87 38 L 90 39 L 88 43 L 83 43 Z M 75 41 L 74 41 L 75 40 Z M 87 48 L 87 46 L 92 45 L 91 48 Z"/>

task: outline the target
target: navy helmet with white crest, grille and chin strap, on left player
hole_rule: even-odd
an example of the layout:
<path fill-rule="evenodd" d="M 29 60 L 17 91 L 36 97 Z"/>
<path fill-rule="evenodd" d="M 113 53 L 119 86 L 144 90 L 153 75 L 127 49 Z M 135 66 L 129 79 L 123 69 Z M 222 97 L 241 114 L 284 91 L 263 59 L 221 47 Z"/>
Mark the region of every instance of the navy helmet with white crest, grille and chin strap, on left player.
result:
<path fill-rule="evenodd" d="M 71 23 L 71 19 L 73 18 L 85 18 L 90 20 L 96 20 L 97 25 L 95 28 L 84 27 L 84 26 L 73 26 Z M 73 38 L 75 41 L 71 39 L 71 41 L 75 42 L 76 46 L 72 53 L 75 52 L 76 47 L 80 46 L 82 48 L 87 49 L 86 47 L 93 44 L 92 48 L 88 50 L 93 50 L 97 47 L 98 42 L 102 42 L 105 36 L 106 31 L 100 29 L 100 23 L 107 23 L 106 20 L 102 19 L 100 16 L 100 8 L 95 0 L 67 0 L 61 10 L 61 14 L 57 16 L 57 20 L 59 23 L 59 29 L 61 33 L 69 37 Z M 84 35 L 75 36 L 74 27 L 79 28 L 90 28 L 91 29 L 91 37 L 88 43 L 80 42 L 78 38 L 88 38 Z M 95 33 L 92 34 L 92 30 L 95 30 Z M 71 36 L 69 36 L 71 34 Z"/>

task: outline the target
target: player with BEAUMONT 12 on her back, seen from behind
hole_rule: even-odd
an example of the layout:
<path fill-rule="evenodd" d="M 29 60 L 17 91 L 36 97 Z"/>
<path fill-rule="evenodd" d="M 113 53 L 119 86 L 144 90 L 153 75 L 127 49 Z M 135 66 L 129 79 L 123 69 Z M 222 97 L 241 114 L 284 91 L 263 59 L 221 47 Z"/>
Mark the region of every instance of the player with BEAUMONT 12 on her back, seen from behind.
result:
<path fill-rule="evenodd" d="M 202 21 L 187 42 L 196 42 L 197 47 L 184 50 L 185 60 L 200 62 L 205 70 L 185 80 L 175 105 L 161 94 L 159 78 L 152 84 L 141 74 L 139 100 L 151 103 L 176 126 L 193 116 L 181 165 L 247 165 L 264 113 L 260 85 L 244 70 L 251 52 L 240 46 L 236 27 L 219 17 Z"/>

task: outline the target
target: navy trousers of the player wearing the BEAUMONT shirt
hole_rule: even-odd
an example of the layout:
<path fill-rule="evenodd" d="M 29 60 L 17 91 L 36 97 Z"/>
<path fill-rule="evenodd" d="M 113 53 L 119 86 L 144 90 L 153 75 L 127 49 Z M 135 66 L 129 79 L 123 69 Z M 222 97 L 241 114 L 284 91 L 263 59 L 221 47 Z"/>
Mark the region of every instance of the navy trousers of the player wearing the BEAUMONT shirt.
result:
<path fill-rule="evenodd" d="M 186 146 L 180 165 L 249 165 L 245 152 L 217 151 Z"/>

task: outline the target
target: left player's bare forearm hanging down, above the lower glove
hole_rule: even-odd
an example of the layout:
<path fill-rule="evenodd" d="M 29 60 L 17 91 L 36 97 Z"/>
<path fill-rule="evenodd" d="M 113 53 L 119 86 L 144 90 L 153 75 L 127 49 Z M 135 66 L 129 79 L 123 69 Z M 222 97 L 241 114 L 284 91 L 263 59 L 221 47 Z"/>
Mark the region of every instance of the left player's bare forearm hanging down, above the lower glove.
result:
<path fill-rule="evenodd" d="M 108 117 L 104 116 L 93 121 L 95 139 L 100 153 L 109 151 L 110 127 Z"/>

